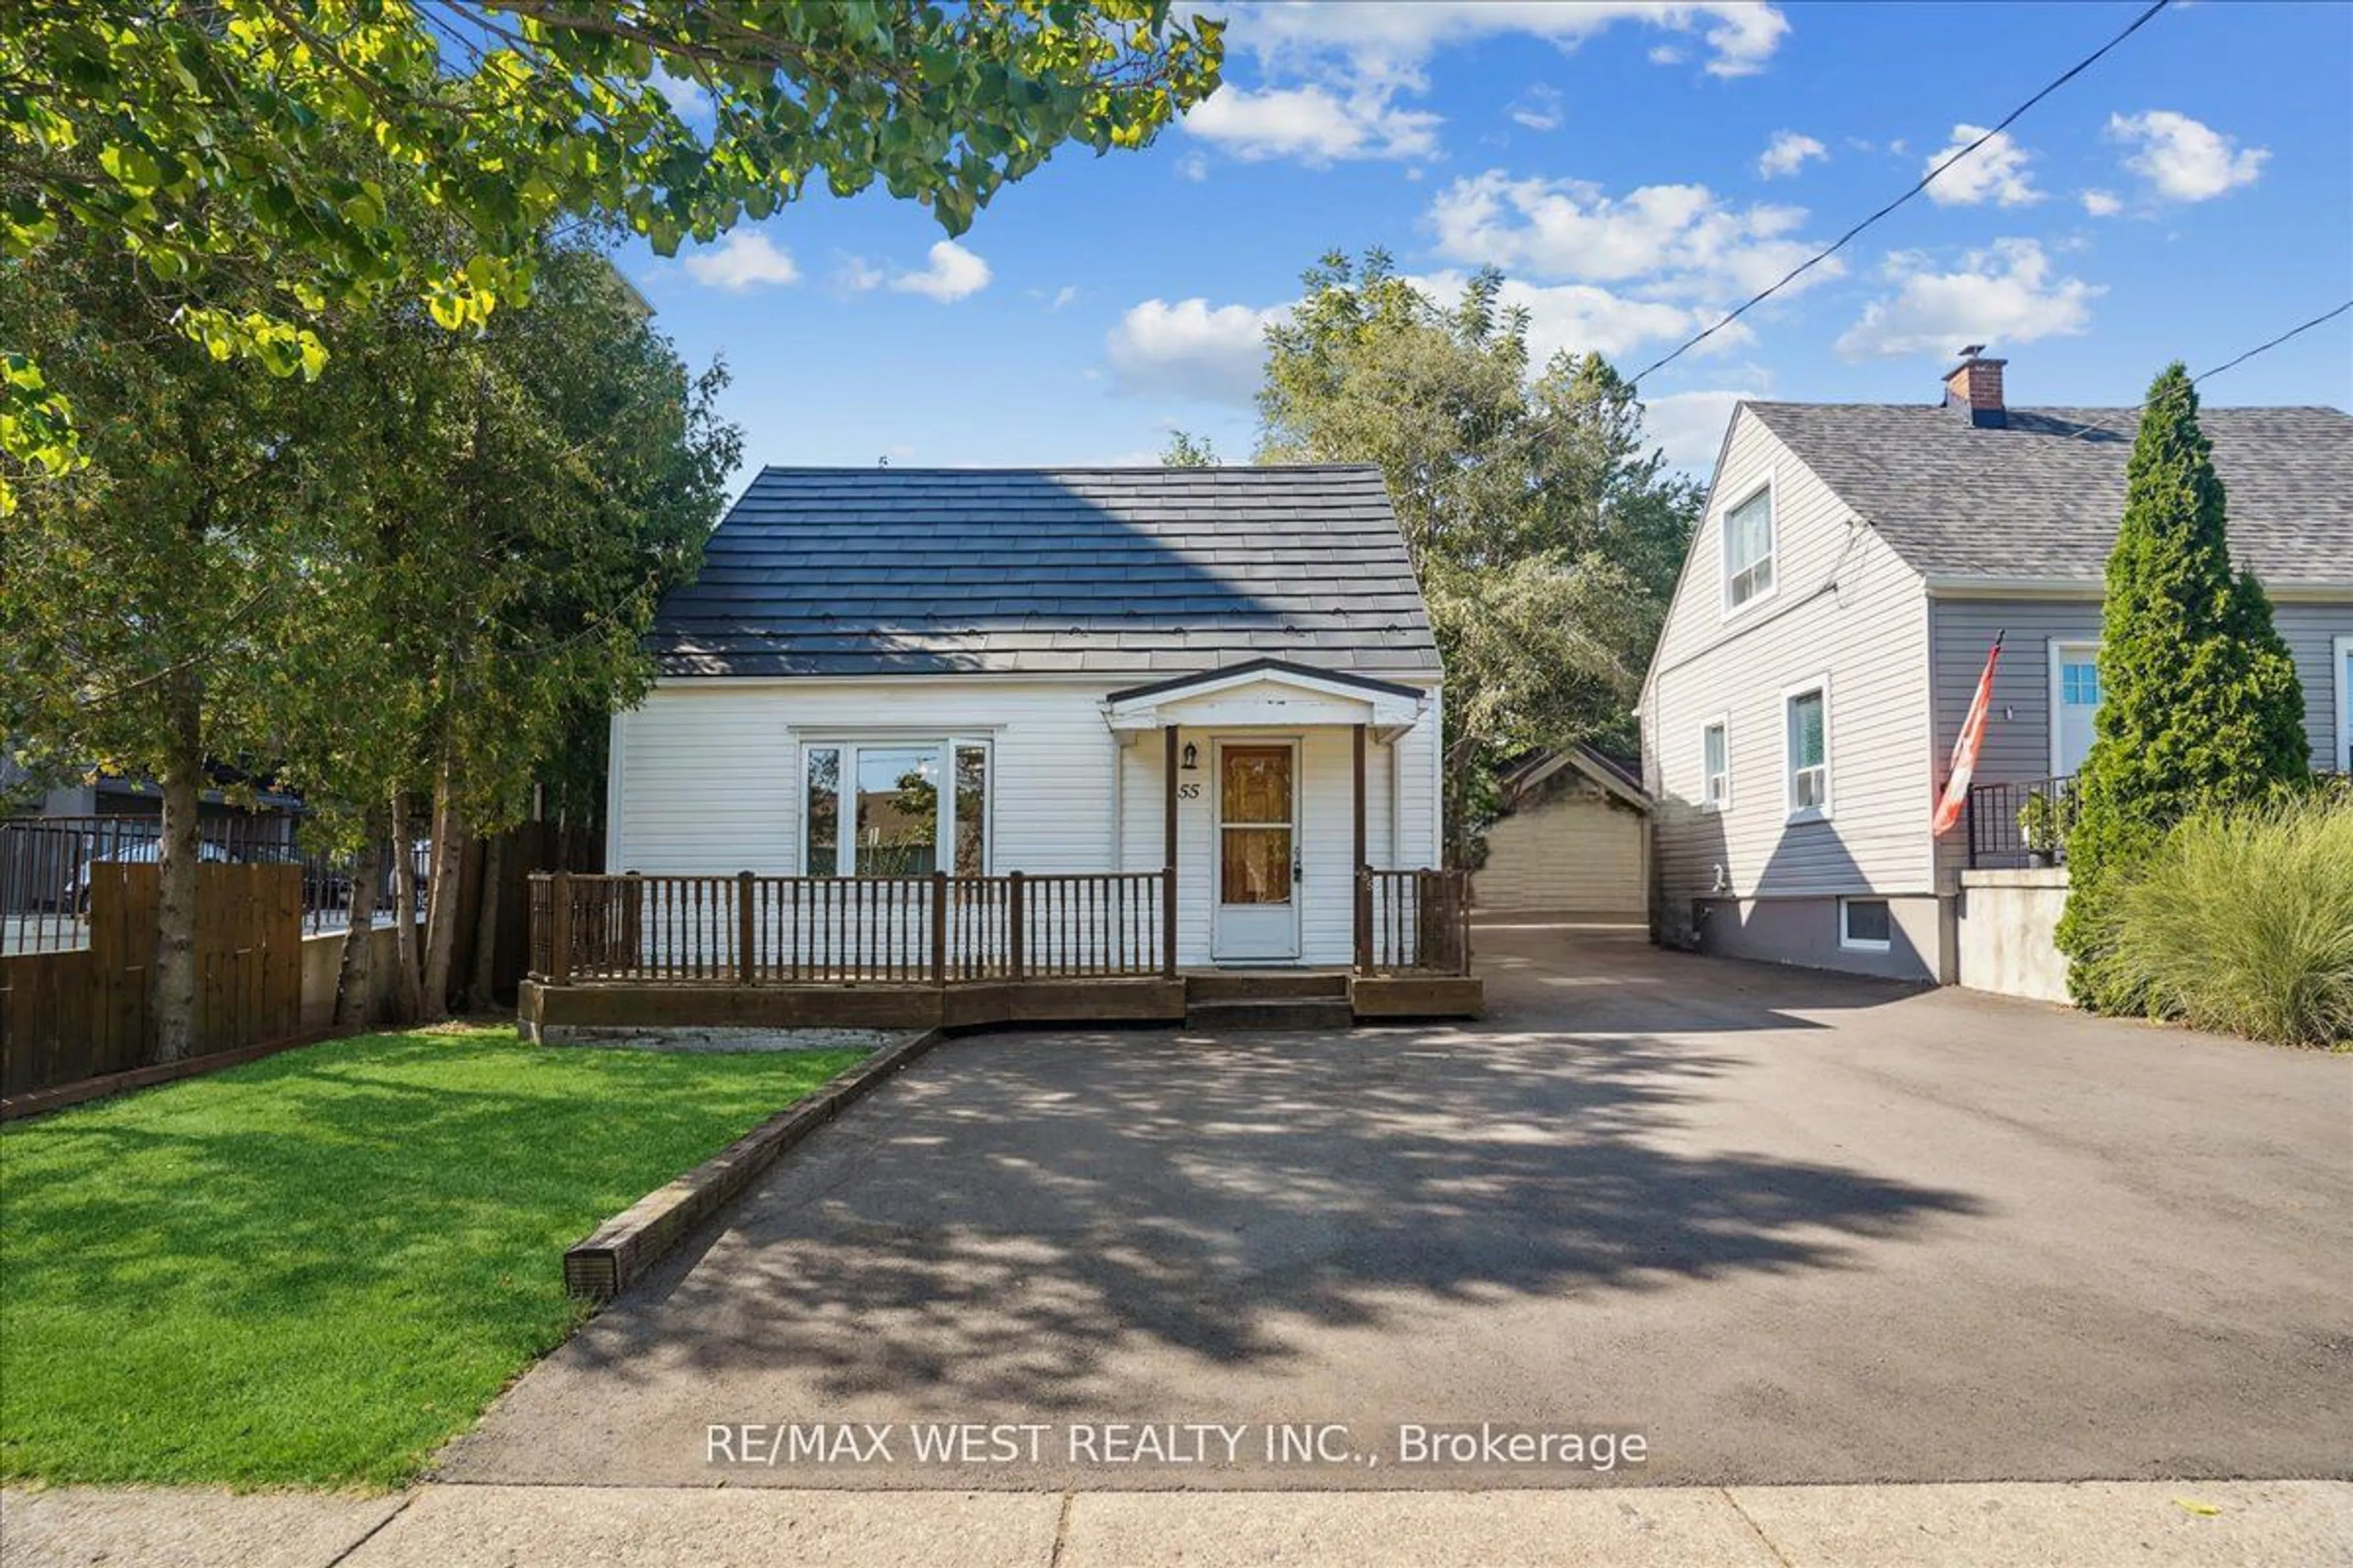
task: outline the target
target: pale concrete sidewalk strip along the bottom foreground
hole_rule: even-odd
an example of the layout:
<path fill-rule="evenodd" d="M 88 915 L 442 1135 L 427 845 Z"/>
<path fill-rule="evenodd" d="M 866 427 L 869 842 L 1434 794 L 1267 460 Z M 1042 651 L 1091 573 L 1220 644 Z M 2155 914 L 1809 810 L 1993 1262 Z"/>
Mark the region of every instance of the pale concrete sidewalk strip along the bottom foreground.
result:
<path fill-rule="evenodd" d="M 424 1486 L 398 1497 L 9 1490 L 0 1568 L 1993 1568 L 2353 1561 L 2348 1481 L 1508 1493 L 812 1493 Z"/>

